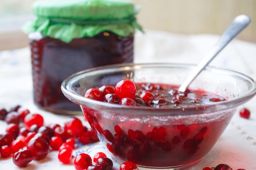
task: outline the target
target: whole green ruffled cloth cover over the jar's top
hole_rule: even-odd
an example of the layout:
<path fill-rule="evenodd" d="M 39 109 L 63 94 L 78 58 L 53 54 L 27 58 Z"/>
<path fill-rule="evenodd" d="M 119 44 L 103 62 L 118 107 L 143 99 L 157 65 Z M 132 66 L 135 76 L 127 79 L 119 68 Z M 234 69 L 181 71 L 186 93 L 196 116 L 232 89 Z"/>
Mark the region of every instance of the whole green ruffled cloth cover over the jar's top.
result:
<path fill-rule="evenodd" d="M 123 37 L 142 31 L 135 18 L 139 8 L 123 0 L 38 0 L 32 11 L 36 19 L 22 27 L 25 33 L 40 32 L 64 42 L 104 31 Z"/>

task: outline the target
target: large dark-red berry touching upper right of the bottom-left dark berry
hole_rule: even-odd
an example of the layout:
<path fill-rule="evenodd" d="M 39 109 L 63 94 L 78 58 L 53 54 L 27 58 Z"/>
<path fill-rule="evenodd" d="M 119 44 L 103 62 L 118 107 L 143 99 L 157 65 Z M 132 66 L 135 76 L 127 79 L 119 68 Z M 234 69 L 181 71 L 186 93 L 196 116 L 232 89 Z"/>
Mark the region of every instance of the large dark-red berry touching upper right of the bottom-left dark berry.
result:
<path fill-rule="evenodd" d="M 33 137 L 27 143 L 27 149 L 32 152 L 35 160 L 40 160 L 49 153 L 49 144 L 42 137 Z"/>

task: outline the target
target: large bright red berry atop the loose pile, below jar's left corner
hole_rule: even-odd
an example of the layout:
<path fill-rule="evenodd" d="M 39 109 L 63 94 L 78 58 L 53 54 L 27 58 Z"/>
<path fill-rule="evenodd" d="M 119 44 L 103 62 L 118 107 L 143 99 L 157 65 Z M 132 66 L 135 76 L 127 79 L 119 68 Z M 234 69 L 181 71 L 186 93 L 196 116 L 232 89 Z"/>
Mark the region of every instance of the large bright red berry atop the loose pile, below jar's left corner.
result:
<path fill-rule="evenodd" d="M 41 127 L 44 124 L 44 119 L 40 114 L 37 113 L 29 113 L 24 118 L 24 126 L 29 129 L 30 126 L 36 124 L 37 126 Z"/>

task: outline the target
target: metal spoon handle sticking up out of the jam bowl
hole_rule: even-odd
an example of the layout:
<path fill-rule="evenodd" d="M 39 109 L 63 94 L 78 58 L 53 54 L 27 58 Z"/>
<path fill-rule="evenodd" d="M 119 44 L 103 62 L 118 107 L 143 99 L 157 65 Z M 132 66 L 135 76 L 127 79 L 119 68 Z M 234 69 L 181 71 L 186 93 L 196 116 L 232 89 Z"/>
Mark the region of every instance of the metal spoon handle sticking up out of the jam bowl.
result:
<path fill-rule="evenodd" d="M 213 60 L 214 57 L 232 40 L 238 35 L 249 23 L 251 19 L 247 15 L 237 16 L 227 30 L 221 35 L 218 42 L 213 46 L 211 51 L 203 58 L 203 60 L 195 67 L 195 69 L 189 74 L 186 80 L 182 83 L 178 89 L 180 92 L 185 92 L 194 79 L 200 74 L 202 70 Z"/>

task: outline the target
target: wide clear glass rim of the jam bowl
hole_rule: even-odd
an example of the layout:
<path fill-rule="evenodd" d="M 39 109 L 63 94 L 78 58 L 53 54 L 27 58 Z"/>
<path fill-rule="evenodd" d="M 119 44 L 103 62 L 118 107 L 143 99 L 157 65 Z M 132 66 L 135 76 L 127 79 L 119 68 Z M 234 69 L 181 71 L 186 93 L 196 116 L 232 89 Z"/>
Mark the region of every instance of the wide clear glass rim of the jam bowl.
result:
<path fill-rule="evenodd" d="M 166 109 L 158 109 L 154 107 L 137 107 L 137 106 L 125 106 L 125 105 L 117 105 L 107 102 L 101 102 L 97 100 L 92 100 L 85 98 L 79 94 L 74 94 L 68 90 L 68 83 L 72 78 L 82 74 L 88 74 L 90 72 L 97 72 L 102 70 L 109 70 L 109 69 L 116 69 L 116 68 L 123 68 L 124 70 L 129 70 L 130 68 L 147 68 L 147 67 L 180 67 L 180 68 L 195 68 L 196 65 L 194 64 L 181 64 L 181 63 L 122 63 L 122 64 L 112 64 L 112 65 L 104 65 L 99 66 L 87 70 L 82 70 L 71 76 L 65 78 L 65 80 L 61 84 L 61 91 L 63 92 L 64 96 L 71 100 L 72 102 L 80 105 L 85 105 L 91 109 L 95 110 L 102 110 L 108 112 L 115 112 L 115 113 L 123 113 L 123 114 L 132 114 L 132 115 L 148 115 L 148 116 L 155 116 L 157 111 L 157 116 L 178 116 L 178 115 L 197 115 L 203 113 L 214 113 L 216 111 L 230 109 L 234 107 L 238 107 L 239 105 L 244 104 L 245 102 L 251 100 L 256 94 L 256 81 L 241 72 L 237 72 L 234 70 L 224 69 L 224 68 L 217 68 L 213 66 L 207 66 L 204 70 L 207 71 L 214 71 L 214 72 L 222 72 L 225 74 L 236 74 L 237 76 L 245 78 L 249 81 L 252 85 L 251 90 L 248 91 L 247 94 L 243 94 L 242 96 L 238 96 L 235 99 L 231 100 L 224 100 L 221 102 L 217 102 L 213 105 L 205 105 L 205 106 L 197 106 L 197 107 L 189 107 L 189 108 L 166 108 Z M 198 111 L 202 110 L 202 111 Z"/>

